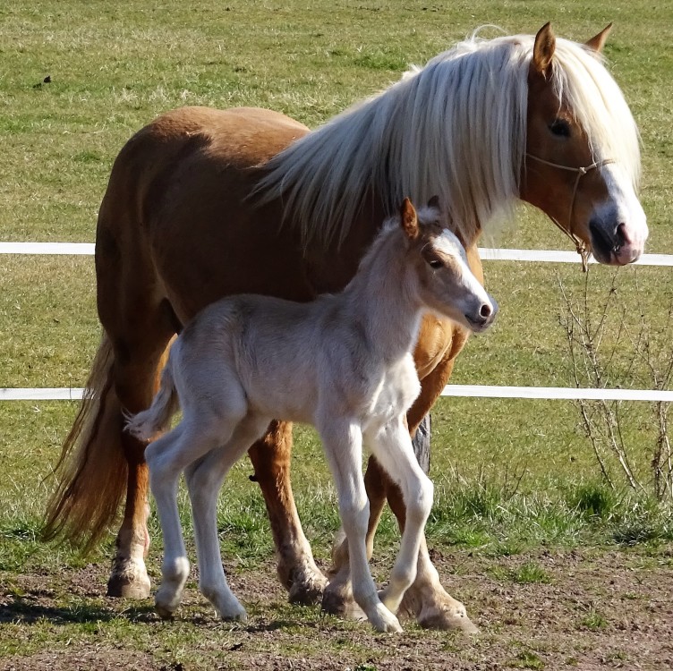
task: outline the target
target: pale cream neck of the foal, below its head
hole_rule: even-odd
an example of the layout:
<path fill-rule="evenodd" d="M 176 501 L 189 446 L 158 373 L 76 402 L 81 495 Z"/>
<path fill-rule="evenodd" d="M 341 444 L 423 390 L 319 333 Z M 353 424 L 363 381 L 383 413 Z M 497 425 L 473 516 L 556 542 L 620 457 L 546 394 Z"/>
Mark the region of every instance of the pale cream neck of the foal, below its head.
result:
<path fill-rule="evenodd" d="M 422 316 L 413 269 L 396 233 L 374 242 L 342 294 L 347 319 L 362 326 L 370 346 L 388 361 L 412 350 Z"/>

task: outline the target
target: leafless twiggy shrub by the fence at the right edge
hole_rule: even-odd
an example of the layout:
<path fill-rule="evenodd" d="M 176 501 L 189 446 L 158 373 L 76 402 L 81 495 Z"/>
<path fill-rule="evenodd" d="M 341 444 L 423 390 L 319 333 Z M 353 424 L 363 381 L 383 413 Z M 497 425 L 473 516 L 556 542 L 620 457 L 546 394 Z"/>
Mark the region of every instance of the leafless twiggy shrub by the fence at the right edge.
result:
<path fill-rule="evenodd" d="M 644 310 L 643 292 L 635 278 L 636 306 L 622 296 L 618 272 L 612 276 L 607 295 L 599 298 L 591 287 L 592 273 L 584 279 L 578 297 L 569 293 L 560 277 L 558 285 L 565 305 L 560 325 L 567 336 L 570 369 L 575 386 L 633 388 L 643 386 L 669 390 L 673 377 L 673 302 L 664 319 L 652 325 Z M 633 291 L 629 289 L 629 291 Z M 660 315 L 661 311 L 658 310 Z M 630 488 L 651 493 L 657 499 L 673 499 L 673 454 L 669 439 L 669 403 L 647 402 L 650 431 L 634 441 L 626 437 L 627 419 L 623 401 L 577 400 L 584 434 L 591 442 L 602 477 L 611 488 L 626 481 Z M 633 431 L 630 432 L 633 435 Z M 646 436 L 654 436 L 653 445 Z M 642 439 L 641 439 L 642 438 Z M 634 443 L 637 442 L 637 445 Z M 643 442 L 645 446 L 643 446 Z M 638 468 L 643 461 L 647 468 Z"/>

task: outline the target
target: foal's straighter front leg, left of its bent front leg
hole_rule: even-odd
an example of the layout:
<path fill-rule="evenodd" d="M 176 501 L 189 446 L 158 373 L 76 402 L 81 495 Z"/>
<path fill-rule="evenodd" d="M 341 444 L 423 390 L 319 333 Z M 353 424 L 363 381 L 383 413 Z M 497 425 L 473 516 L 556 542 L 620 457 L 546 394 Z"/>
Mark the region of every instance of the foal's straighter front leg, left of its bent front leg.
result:
<path fill-rule="evenodd" d="M 365 536 L 369 501 L 362 478 L 362 430 L 348 420 L 327 420 L 317 427 L 337 487 L 339 514 L 348 539 L 353 596 L 379 632 L 401 632 L 396 616 L 384 606 L 371 577 Z"/>

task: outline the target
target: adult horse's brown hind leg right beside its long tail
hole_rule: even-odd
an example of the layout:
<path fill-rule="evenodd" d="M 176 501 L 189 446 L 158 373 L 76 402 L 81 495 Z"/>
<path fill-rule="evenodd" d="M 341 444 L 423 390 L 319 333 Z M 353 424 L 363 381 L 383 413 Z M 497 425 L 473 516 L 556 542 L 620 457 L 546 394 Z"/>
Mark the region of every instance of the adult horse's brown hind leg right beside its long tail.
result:
<path fill-rule="evenodd" d="M 135 599 L 149 596 L 145 556 L 149 548 L 149 480 L 145 445 L 124 432 L 124 412 L 149 407 L 158 388 L 166 345 L 175 335 L 175 313 L 158 294 L 151 261 L 141 247 L 126 242 L 124 250 L 111 233 L 117 202 L 106 198 L 98 219 L 96 273 L 98 316 L 113 349 L 112 383 L 118 405 L 110 418 L 127 464 L 124 518 L 117 533 L 116 554 L 107 594 Z"/>

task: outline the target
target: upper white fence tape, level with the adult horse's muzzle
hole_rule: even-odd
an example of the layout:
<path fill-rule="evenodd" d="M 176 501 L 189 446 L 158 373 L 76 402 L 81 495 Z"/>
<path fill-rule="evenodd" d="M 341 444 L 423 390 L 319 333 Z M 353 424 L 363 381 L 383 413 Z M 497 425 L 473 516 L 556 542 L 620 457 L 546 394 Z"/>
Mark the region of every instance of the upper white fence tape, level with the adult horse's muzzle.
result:
<path fill-rule="evenodd" d="M 81 254 L 92 255 L 93 242 L 0 242 L 0 254 Z M 552 263 L 579 263 L 575 251 L 502 250 L 481 247 L 484 261 L 543 261 Z M 594 259 L 590 263 L 596 263 Z M 643 254 L 635 262 L 639 266 L 673 266 L 673 254 Z"/>

